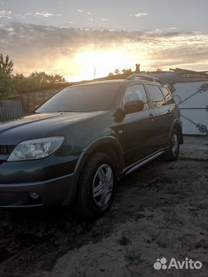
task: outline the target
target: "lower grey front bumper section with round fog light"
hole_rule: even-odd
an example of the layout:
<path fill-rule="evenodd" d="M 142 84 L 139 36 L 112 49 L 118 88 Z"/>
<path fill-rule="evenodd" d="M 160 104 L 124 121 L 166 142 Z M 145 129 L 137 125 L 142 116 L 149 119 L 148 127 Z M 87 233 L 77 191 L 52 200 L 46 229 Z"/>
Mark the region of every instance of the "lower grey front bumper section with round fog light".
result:
<path fill-rule="evenodd" d="M 41 182 L 0 184 L 0 207 L 70 205 L 74 201 L 77 180 L 78 175 L 71 173 Z M 39 197 L 33 199 L 30 192 L 38 193 Z"/>

